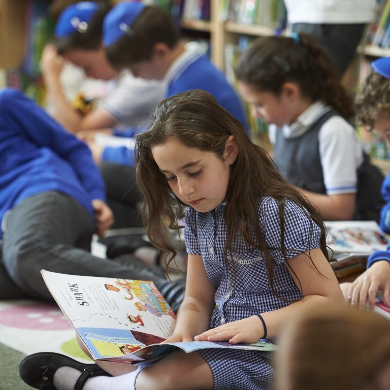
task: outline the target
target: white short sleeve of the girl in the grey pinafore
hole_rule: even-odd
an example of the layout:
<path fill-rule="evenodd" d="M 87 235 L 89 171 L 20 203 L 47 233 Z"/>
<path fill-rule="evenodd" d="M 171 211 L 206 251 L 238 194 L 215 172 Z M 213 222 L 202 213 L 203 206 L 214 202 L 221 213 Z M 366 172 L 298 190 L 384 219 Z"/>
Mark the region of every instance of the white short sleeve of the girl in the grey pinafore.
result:
<path fill-rule="evenodd" d="M 342 117 L 333 116 L 322 125 L 318 142 L 327 194 L 356 192 L 363 146 L 355 129 Z"/>

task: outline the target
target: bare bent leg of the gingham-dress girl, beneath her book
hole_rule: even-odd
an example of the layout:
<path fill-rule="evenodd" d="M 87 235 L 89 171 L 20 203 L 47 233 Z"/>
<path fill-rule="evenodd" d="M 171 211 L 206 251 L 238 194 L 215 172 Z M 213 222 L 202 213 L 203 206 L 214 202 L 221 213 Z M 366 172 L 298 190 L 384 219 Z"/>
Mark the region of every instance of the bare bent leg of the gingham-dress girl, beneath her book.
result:
<path fill-rule="evenodd" d="M 179 351 L 142 370 L 135 387 L 136 390 L 212 390 L 214 380 L 201 355 Z"/>

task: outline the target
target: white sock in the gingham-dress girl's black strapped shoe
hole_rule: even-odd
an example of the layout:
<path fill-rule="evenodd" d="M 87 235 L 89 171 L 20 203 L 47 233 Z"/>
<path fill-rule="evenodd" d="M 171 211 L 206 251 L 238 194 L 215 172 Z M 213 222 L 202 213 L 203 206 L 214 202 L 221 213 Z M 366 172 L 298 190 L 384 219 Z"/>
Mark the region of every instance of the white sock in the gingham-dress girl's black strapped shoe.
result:
<path fill-rule="evenodd" d="M 83 390 L 136 390 L 135 384 L 139 373 L 149 365 L 142 365 L 137 370 L 119 376 L 95 376 L 89 378 Z M 80 371 L 75 368 L 62 366 L 55 373 L 53 378 L 54 387 L 57 390 L 74 390 Z"/>

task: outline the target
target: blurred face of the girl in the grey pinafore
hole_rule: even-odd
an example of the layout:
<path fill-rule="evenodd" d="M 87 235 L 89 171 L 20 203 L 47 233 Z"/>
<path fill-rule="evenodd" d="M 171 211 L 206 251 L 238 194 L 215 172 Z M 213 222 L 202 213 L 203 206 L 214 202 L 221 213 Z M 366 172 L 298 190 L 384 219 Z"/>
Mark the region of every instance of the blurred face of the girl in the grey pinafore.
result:
<path fill-rule="evenodd" d="M 238 89 L 244 101 L 251 105 L 252 115 L 266 123 L 281 127 L 299 116 L 295 99 L 291 100 L 288 91 L 284 89 L 279 96 L 272 92 L 259 92 L 250 84 L 239 83 Z"/>

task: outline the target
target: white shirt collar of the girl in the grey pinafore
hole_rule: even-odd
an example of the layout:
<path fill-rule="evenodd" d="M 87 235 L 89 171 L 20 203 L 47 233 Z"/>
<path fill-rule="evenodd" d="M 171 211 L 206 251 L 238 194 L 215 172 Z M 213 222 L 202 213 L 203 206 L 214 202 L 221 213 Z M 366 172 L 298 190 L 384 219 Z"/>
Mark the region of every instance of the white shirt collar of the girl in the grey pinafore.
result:
<path fill-rule="evenodd" d="M 321 101 L 311 104 L 293 123 L 285 124 L 282 128 L 284 138 L 296 138 L 305 134 L 313 123 L 324 113 L 331 110 Z"/>

